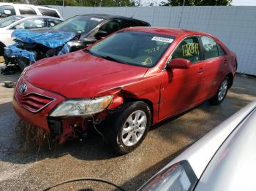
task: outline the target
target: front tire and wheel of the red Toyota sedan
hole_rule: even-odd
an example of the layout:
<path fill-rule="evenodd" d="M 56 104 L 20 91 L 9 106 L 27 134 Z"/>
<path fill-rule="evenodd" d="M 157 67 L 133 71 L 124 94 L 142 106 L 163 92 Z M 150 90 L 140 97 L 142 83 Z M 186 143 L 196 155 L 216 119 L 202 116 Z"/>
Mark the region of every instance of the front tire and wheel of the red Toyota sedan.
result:
<path fill-rule="evenodd" d="M 145 139 L 151 125 L 151 109 L 143 101 L 124 105 L 111 122 L 108 139 L 118 154 L 136 149 Z"/>

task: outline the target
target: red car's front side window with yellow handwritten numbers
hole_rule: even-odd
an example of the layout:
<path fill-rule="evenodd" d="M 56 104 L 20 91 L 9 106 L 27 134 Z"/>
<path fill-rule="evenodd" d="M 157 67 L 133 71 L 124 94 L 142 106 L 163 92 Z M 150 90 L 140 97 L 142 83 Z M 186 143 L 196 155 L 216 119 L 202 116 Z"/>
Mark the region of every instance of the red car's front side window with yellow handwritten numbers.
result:
<path fill-rule="evenodd" d="M 178 44 L 178 47 L 173 52 L 172 58 L 184 58 L 191 63 L 200 61 L 200 47 L 197 37 L 188 37 Z"/>

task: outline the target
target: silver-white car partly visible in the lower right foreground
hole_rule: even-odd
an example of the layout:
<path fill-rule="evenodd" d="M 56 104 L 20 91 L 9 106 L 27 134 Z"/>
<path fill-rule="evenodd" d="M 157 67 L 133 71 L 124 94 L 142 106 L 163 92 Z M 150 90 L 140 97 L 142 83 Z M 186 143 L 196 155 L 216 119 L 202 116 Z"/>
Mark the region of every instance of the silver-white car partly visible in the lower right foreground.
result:
<path fill-rule="evenodd" d="M 256 101 L 178 155 L 139 190 L 254 190 Z"/>

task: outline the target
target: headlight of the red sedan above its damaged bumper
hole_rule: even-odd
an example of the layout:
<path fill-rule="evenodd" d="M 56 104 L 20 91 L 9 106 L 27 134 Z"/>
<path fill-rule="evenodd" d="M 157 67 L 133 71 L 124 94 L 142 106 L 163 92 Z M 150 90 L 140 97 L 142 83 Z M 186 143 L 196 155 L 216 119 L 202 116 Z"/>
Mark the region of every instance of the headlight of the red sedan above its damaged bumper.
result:
<path fill-rule="evenodd" d="M 74 99 L 63 101 L 50 114 L 52 117 L 84 116 L 102 112 L 112 101 L 113 95 L 94 99 Z"/>

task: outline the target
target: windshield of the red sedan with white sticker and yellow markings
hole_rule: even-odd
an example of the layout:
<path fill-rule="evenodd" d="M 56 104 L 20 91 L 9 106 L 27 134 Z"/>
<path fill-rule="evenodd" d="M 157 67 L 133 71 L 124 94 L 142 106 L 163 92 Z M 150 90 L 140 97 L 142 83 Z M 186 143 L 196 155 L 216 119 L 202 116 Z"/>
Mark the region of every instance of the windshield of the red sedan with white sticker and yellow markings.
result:
<path fill-rule="evenodd" d="M 89 52 L 120 63 L 153 67 L 173 42 L 173 37 L 139 31 L 123 31 L 95 44 Z"/>

